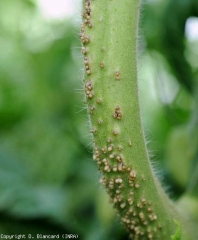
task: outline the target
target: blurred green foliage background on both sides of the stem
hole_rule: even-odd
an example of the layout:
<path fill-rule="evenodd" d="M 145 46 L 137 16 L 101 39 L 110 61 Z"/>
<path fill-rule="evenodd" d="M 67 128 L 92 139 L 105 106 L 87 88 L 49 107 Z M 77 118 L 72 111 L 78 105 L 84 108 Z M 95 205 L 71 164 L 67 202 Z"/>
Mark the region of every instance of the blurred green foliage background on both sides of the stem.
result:
<path fill-rule="evenodd" d="M 0 233 L 127 239 L 92 161 L 80 14 L 50 18 L 40 6 L 0 1 Z M 197 199 L 198 2 L 145 0 L 140 25 L 151 159 L 174 200 Z"/>

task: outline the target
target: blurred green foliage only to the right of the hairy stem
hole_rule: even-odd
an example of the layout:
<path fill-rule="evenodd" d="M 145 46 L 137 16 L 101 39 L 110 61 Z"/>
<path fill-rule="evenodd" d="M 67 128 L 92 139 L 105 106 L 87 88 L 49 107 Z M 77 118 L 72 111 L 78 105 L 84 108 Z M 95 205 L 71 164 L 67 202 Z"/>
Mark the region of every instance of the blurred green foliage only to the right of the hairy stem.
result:
<path fill-rule="evenodd" d="M 154 160 L 160 160 L 171 194 L 178 198 L 187 189 L 197 195 L 198 38 L 188 36 L 187 23 L 193 17 L 198 24 L 198 2 L 151 1 L 143 12 L 143 56 L 148 68 L 145 75 L 150 74 L 145 81 L 155 89 L 153 99 L 148 97 L 142 104 L 145 126 L 152 136 L 149 146 L 152 151 L 157 150 Z M 195 28 L 197 25 L 191 34 Z"/>

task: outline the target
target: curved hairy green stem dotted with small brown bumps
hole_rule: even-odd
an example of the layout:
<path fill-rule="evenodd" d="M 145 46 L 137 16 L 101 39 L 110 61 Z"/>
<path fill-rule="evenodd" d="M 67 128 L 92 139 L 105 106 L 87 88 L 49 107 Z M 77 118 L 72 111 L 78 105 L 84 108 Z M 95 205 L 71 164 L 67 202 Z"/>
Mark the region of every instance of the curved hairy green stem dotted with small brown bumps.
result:
<path fill-rule="evenodd" d="M 177 231 L 173 219 L 178 219 L 152 172 L 141 125 L 139 4 L 139 0 L 84 0 L 80 38 L 86 103 L 101 183 L 130 237 L 166 240 Z"/>

